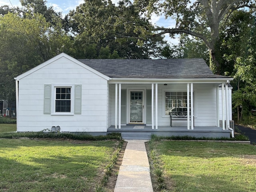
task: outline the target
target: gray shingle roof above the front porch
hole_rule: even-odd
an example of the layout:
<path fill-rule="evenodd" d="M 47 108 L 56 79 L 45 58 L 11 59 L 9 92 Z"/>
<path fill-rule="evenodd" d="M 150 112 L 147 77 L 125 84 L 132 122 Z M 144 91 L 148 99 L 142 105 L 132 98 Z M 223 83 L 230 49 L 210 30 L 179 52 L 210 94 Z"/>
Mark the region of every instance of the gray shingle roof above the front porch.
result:
<path fill-rule="evenodd" d="M 110 78 L 227 78 L 214 75 L 201 58 L 78 60 Z"/>

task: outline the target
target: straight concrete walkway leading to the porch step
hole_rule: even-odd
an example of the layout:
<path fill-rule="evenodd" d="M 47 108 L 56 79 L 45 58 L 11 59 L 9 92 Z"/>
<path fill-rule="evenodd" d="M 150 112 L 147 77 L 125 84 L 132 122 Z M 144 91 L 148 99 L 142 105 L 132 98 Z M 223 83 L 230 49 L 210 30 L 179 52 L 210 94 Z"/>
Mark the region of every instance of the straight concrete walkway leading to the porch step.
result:
<path fill-rule="evenodd" d="M 126 140 L 114 192 L 153 192 L 146 140 Z"/>

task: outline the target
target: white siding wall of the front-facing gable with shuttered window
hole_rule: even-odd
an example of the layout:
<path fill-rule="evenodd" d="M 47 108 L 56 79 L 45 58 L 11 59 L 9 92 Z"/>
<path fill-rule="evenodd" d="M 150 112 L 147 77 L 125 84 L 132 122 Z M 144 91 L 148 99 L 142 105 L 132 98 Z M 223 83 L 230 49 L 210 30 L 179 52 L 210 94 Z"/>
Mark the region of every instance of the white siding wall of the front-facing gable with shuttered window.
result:
<path fill-rule="evenodd" d="M 44 84 L 81 84 L 82 114 L 44 114 Z M 60 58 L 19 81 L 18 116 L 18 131 L 106 132 L 107 80 Z"/>

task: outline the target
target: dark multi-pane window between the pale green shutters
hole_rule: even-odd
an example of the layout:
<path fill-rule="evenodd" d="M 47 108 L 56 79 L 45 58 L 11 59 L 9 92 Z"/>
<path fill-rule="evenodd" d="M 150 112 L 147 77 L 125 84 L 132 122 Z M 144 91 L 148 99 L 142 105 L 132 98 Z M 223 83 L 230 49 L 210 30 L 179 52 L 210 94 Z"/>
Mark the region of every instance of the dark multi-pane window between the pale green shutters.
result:
<path fill-rule="evenodd" d="M 71 87 L 56 87 L 55 112 L 71 112 Z"/>

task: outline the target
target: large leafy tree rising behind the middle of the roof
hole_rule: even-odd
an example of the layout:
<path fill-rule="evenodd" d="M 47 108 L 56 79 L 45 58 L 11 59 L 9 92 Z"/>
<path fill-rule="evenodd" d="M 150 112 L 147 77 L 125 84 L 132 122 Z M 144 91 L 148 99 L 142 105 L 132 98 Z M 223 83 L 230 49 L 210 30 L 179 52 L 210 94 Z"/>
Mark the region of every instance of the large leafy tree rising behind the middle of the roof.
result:
<path fill-rule="evenodd" d="M 144 41 L 140 41 L 139 34 L 142 32 L 133 24 L 119 22 L 122 18 L 134 18 L 136 22 L 150 24 L 140 17 L 129 2 L 120 2 L 115 6 L 110 0 L 85 0 L 76 10 L 70 11 L 65 17 L 68 20 L 65 28 L 71 29 L 75 36 L 76 55 L 73 56 L 102 58 L 103 50 L 108 51 L 108 58 L 113 57 L 113 54 L 119 58 L 157 56 L 163 38 L 144 38 Z"/>

